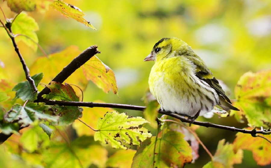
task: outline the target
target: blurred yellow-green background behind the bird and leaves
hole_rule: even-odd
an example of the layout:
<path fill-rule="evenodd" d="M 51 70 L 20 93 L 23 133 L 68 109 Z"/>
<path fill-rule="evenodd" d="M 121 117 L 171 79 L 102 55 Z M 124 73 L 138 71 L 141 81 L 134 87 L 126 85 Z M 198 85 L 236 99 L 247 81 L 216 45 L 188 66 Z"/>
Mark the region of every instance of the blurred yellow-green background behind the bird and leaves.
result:
<path fill-rule="evenodd" d="M 148 88 L 148 75 L 154 62 L 143 62 L 154 44 L 164 37 L 177 37 L 207 63 L 217 79 L 232 91 L 240 76 L 271 67 L 271 1 L 270 0 L 66 0 L 80 8 L 97 31 L 50 9 L 45 14 L 29 13 L 38 22 L 39 44 L 50 54 L 70 45 L 80 50 L 97 44 L 97 57 L 115 72 L 119 95 L 106 94 L 89 83 L 84 101 L 102 100 L 108 103 L 144 105 L 142 97 Z M 6 17 L 14 17 L 6 2 L 1 2 Z M 3 16 L 0 16 L 3 19 Z M 11 40 L 0 31 L 0 68 L 19 82 L 25 79 Z M 42 56 L 23 43 L 19 48 L 31 67 Z M 76 57 L 76 56 L 75 56 Z M 32 75 L 38 72 L 31 72 Z M 45 74 L 46 75 L 46 74 Z M 127 110 L 119 110 L 121 112 Z M 142 112 L 128 111 L 133 116 Z M 233 117 L 204 119 L 217 124 L 246 127 Z M 235 133 L 213 128 L 200 128 L 198 134 L 214 154 L 220 139 L 232 142 Z M 199 159 L 186 167 L 201 167 L 210 158 L 200 147 Z M 245 151 L 242 165 L 258 167 L 251 152 Z"/>

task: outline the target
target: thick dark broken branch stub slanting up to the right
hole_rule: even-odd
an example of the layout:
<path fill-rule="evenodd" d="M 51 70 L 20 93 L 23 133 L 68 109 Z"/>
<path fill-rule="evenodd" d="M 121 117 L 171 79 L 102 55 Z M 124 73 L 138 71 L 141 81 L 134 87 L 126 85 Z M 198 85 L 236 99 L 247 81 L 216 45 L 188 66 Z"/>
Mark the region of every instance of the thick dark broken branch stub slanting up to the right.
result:
<path fill-rule="evenodd" d="M 97 53 L 101 53 L 97 50 L 97 46 L 93 45 L 88 47 L 82 53 L 74 58 L 67 66 L 65 66 L 62 71 L 56 75 L 52 81 L 63 83 L 76 69 L 86 63 L 91 57 Z M 50 83 L 49 83 L 50 84 Z M 50 93 L 50 89 L 45 87 L 41 92 L 38 93 L 38 99 L 35 102 L 42 101 L 42 95 Z"/>

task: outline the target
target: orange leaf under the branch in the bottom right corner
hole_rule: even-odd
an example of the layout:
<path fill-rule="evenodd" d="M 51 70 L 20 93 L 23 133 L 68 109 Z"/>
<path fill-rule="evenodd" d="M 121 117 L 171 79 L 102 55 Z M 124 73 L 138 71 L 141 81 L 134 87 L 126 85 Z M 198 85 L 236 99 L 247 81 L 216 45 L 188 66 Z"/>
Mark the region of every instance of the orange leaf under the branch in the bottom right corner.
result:
<path fill-rule="evenodd" d="M 246 130 L 252 130 L 252 128 L 244 128 Z M 252 137 L 250 134 L 237 133 L 233 142 L 234 150 L 239 149 L 249 150 L 253 154 L 254 160 L 260 166 L 269 165 L 271 163 L 271 135 L 261 135 L 266 139 L 260 137 Z"/>

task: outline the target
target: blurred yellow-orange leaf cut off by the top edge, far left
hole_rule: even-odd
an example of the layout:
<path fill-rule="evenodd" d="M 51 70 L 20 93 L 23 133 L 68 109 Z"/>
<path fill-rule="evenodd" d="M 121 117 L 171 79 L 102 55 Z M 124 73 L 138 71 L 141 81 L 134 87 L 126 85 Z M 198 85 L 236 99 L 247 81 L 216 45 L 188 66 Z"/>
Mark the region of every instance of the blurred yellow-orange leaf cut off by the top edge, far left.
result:
<path fill-rule="evenodd" d="M 8 7 L 11 11 L 19 13 L 20 11 L 32 12 L 37 9 L 37 11 L 47 11 L 48 5 L 52 0 L 6 0 L 8 2 Z"/>

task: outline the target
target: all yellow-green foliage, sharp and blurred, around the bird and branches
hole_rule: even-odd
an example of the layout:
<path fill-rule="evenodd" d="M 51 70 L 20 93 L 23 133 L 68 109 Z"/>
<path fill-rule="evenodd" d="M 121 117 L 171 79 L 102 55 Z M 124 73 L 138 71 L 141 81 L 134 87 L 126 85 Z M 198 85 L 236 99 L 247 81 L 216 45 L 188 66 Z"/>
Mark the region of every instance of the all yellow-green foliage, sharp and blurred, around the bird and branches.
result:
<path fill-rule="evenodd" d="M 8 140 L 0 145 L 0 167 L 232 168 L 251 163 L 244 150 L 253 154 L 255 167 L 271 164 L 270 1 L 5 1 L 0 2 L 5 28 L 0 30 L 0 139 Z M 229 132 L 223 137 L 219 129 L 204 131 L 161 117 L 148 92 L 143 114 L 58 104 L 84 98 L 100 105 L 143 105 L 139 99 L 152 64 L 142 60 L 154 42 L 170 36 L 198 48 L 196 53 L 230 88 L 238 81 L 232 102 L 240 111 L 230 112 L 237 122 L 233 117 L 219 122 L 244 123 L 251 135 Z M 82 53 L 81 47 L 92 44 L 101 48 L 99 58 L 91 57 L 64 84 L 52 81 Z M 20 53 L 26 63 L 17 58 Z M 25 81 L 30 74 L 22 65 L 30 67 L 35 86 Z M 39 98 L 34 87 L 50 92 Z M 201 140 L 216 150 L 210 158 L 199 153 Z"/>

